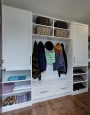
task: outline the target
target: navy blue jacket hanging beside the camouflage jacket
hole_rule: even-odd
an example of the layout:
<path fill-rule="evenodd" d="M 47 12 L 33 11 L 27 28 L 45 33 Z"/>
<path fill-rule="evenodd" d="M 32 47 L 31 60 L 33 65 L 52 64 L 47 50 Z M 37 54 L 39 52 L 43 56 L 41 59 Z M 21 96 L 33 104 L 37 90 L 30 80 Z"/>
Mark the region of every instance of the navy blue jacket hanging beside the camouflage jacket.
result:
<path fill-rule="evenodd" d="M 46 70 L 46 57 L 45 57 L 45 49 L 43 43 L 40 41 L 38 44 L 38 63 L 40 67 L 40 71 L 43 72 Z"/>

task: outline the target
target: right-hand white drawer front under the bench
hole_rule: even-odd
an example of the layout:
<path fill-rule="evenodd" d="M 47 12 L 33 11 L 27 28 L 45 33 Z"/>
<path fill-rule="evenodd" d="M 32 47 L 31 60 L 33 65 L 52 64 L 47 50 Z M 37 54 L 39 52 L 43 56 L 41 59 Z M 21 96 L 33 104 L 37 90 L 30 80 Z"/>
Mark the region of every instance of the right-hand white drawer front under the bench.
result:
<path fill-rule="evenodd" d="M 70 92 L 70 83 L 56 84 L 55 94 Z"/>

